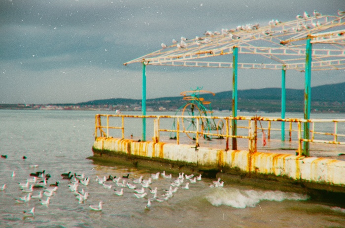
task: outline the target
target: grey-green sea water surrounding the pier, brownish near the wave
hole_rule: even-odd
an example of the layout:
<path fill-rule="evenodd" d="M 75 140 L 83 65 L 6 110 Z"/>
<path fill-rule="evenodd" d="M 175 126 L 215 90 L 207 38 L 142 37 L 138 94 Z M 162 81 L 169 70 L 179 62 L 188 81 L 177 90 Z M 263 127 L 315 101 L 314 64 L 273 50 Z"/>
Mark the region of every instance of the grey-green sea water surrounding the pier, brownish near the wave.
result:
<path fill-rule="evenodd" d="M 109 175 L 121 177 L 122 181 L 123 176 L 129 174 L 126 181 L 133 184 L 140 176 L 148 180 L 156 173 L 134 167 L 100 165 L 87 159 L 93 155 L 95 114 L 106 113 L 113 114 L 110 111 L 0 110 L 0 154 L 7 156 L 0 158 L 0 227 L 345 227 L 345 205 L 318 202 L 305 194 L 263 190 L 237 183 L 212 188 L 210 185 L 217 179 L 202 178 L 190 183 L 189 189 L 181 187 L 189 182 L 184 179 L 177 192 L 165 199 L 162 196 L 165 190 L 178 178 L 173 174 L 171 179 L 160 175 L 152 180 L 150 188 L 157 187 L 156 199 L 162 199 L 157 201 L 148 188 L 144 188 L 146 196 L 137 198 L 134 189 L 119 187 L 114 181 L 100 184 L 98 179 Z M 279 117 L 279 114 L 269 115 Z M 302 114 L 287 115 L 302 117 Z M 311 117 L 340 118 L 341 115 Z M 126 124 L 131 125 L 130 122 Z M 141 127 L 137 122 L 130 127 L 134 130 L 128 134 L 140 135 L 135 132 Z M 59 183 L 48 205 L 42 204 L 47 199 L 44 195 L 41 200 L 20 200 L 29 194 L 21 190 L 20 184 L 32 179 L 30 173 L 37 171 L 45 171 L 51 177 L 47 187 L 33 189 L 33 196 L 40 191 L 48 193 L 45 189 L 51 189 L 50 184 Z M 61 174 L 69 171 L 90 179 L 88 185 L 77 187 L 77 191 L 89 194 L 86 200 L 79 201 L 78 194 L 70 190 L 73 178 L 62 178 Z M 104 187 L 108 185 L 111 185 L 109 189 Z M 141 189 L 140 184 L 136 185 Z M 116 195 L 115 190 L 121 188 L 124 194 Z M 149 199 L 151 205 L 147 207 Z M 103 201 L 101 211 L 90 208 L 90 205 L 99 205 L 100 201 Z M 34 215 L 24 213 L 33 207 Z"/>

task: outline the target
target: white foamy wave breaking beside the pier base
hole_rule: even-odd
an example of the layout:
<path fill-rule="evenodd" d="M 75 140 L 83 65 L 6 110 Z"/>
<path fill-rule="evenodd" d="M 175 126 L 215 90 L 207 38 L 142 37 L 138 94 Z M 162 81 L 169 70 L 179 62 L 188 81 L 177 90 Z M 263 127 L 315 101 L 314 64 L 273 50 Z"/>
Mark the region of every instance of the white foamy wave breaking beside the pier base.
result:
<path fill-rule="evenodd" d="M 309 196 L 281 191 L 240 190 L 236 188 L 214 188 L 206 196 L 213 206 L 227 205 L 235 208 L 255 207 L 262 200 L 307 200 Z"/>

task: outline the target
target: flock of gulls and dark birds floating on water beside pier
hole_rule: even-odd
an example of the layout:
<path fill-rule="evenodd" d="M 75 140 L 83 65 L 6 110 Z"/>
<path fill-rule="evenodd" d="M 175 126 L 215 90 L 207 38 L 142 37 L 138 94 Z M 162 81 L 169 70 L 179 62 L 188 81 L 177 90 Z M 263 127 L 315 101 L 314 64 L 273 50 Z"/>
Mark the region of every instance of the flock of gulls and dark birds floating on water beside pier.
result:
<path fill-rule="evenodd" d="M 33 166 L 37 168 L 36 166 Z M 14 181 L 15 172 L 12 173 L 12 178 Z M 147 204 L 145 209 L 150 209 L 151 204 L 156 202 L 163 202 L 171 199 L 173 194 L 179 189 L 188 190 L 190 184 L 193 185 L 197 181 L 202 180 L 202 175 L 194 176 L 194 174 L 187 175 L 185 173 L 179 173 L 178 177 L 173 179 L 172 174 L 166 174 L 165 171 L 152 173 L 148 179 L 144 179 L 143 175 L 139 178 L 130 178 L 130 174 L 125 176 L 111 176 L 99 177 L 95 181 L 102 185 L 104 189 L 113 190 L 115 197 L 121 197 L 124 194 L 133 194 L 133 197 L 141 199 L 147 199 Z M 18 188 L 20 189 L 20 196 L 15 198 L 15 203 L 25 204 L 31 200 L 38 200 L 41 205 L 48 207 L 50 204 L 50 199 L 54 197 L 59 189 L 59 182 L 54 184 L 48 184 L 48 179 L 51 177 L 49 173 L 43 171 L 36 171 L 30 173 L 30 178 L 26 179 L 24 182 L 17 182 Z M 62 179 L 67 179 L 69 181 L 68 188 L 71 193 L 75 195 L 78 203 L 85 203 L 89 197 L 89 193 L 84 190 L 87 189 L 86 186 L 90 183 L 90 178 L 86 177 L 85 174 L 76 174 L 69 171 L 68 173 L 61 174 Z M 158 190 L 158 187 L 152 187 L 151 184 L 159 179 L 163 178 L 170 182 L 170 186 L 167 189 Z M 212 181 L 209 187 L 223 187 L 224 182 L 218 178 L 217 181 Z M 0 187 L 0 192 L 6 191 L 6 184 Z M 24 195 L 24 196 L 23 196 Z M 89 205 L 90 210 L 102 211 L 103 201 L 100 201 L 97 205 Z M 23 211 L 23 219 L 34 218 L 35 207 L 31 210 Z"/>

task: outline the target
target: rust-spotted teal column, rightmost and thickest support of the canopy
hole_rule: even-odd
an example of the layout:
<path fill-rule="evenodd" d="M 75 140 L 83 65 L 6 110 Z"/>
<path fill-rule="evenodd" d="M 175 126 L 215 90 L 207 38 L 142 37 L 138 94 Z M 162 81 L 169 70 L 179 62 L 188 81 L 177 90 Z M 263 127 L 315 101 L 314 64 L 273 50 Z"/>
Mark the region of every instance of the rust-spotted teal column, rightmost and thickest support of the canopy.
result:
<path fill-rule="evenodd" d="M 311 39 L 307 39 L 306 47 L 306 74 L 304 91 L 304 119 L 309 119 L 311 113 Z M 303 138 L 309 140 L 309 122 L 304 123 Z M 309 157 L 309 142 L 303 142 L 302 155 Z"/>

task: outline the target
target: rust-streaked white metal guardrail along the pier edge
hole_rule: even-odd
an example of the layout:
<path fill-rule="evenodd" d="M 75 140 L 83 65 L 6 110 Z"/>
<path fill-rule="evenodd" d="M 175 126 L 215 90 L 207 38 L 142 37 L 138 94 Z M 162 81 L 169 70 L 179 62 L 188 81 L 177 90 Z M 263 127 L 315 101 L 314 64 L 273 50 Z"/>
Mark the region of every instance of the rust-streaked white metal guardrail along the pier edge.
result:
<path fill-rule="evenodd" d="M 102 125 L 101 118 L 106 118 L 106 125 Z M 109 125 L 109 118 L 121 118 L 121 124 L 118 126 L 110 126 Z M 186 116 L 186 115 L 113 115 L 113 114 L 96 114 L 96 121 L 95 121 L 95 137 L 110 137 L 109 130 L 110 129 L 119 129 L 122 132 L 122 139 L 125 139 L 125 118 L 151 118 L 154 119 L 154 136 L 153 142 L 159 142 L 160 140 L 160 132 L 170 132 L 176 135 L 176 143 L 180 143 L 180 137 L 182 134 L 195 134 L 196 137 L 194 139 L 196 146 L 199 146 L 199 140 L 201 137 L 204 138 L 224 138 L 226 139 L 226 150 L 229 149 L 229 138 L 236 138 L 236 139 L 248 139 L 249 141 L 249 151 L 256 152 L 257 150 L 257 140 L 258 140 L 258 132 L 267 130 L 267 138 L 268 140 L 271 139 L 271 133 L 273 131 L 281 131 L 280 128 L 273 128 L 272 122 L 288 122 L 289 129 L 286 130 L 289 133 L 289 141 L 292 141 L 292 133 L 297 132 L 297 142 L 298 142 L 298 153 L 302 153 L 302 144 L 303 142 L 313 142 L 313 143 L 328 143 L 328 144 L 338 144 L 338 145 L 345 145 L 345 119 L 301 119 L 301 118 L 271 118 L 271 117 L 262 117 L 262 116 Z M 160 123 L 162 119 L 175 119 L 176 120 L 176 129 L 163 129 L 160 127 Z M 183 126 L 181 127 L 181 122 L 185 119 L 193 119 L 196 123 L 195 130 L 186 130 Z M 207 130 L 203 129 L 203 125 L 200 123 L 205 122 L 206 119 L 218 119 L 219 121 L 225 121 L 223 132 L 220 133 L 216 130 Z M 247 129 L 248 133 L 246 135 L 232 135 L 232 121 L 236 120 L 242 124 L 237 124 L 237 128 Z M 260 127 L 258 127 L 258 122 Z M 262 122 L 267 122 L 267 127 L 262 127 Z M 310 130 L 311 139 L 304 139 L 303 138 L 303 125 L 302 123 L 311 123 L 312 127 Z M 297 128 L 293 128 L 293 123 L 297 124 Z M 334 123 L 334 129 L 332 132 L 320 132 L 315 130 L 315 123 L 322 124 L 322 123 Z M 341 133 L 339 133 L 339 124 L 342 125 Z M 119 126 L 120 125 L 120 126 Z M 263 124 L 266 125 L 266 124 Z M 285 132 L 286 132 L 285 131 Z M 324 140 L 324 139 L 315 139 L 315 136 L 333 136 L 332 140 Z M 340 140 L 342 139 L 342 140 Z"/>

